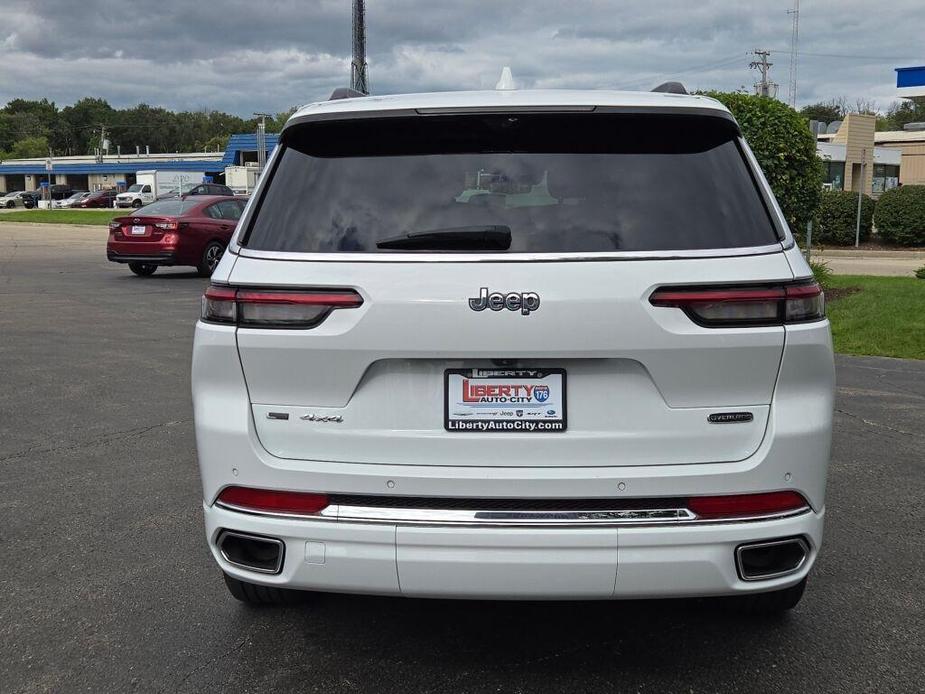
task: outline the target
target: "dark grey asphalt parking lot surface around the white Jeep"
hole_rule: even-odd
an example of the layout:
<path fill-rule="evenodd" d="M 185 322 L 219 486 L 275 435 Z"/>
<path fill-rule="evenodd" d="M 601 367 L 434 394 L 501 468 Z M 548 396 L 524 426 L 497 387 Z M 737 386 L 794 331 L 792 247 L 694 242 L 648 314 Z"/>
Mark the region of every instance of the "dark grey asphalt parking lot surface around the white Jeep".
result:
<path fill-rule="evenodd" d="M 105 233 L 0 223 L 0 691 L 925 691 L 925 362 L 838 357 L 825 546 L 786 617 L 334 595 L 255 610 L 202 528 L 206 280 L 137 278 Z"/>

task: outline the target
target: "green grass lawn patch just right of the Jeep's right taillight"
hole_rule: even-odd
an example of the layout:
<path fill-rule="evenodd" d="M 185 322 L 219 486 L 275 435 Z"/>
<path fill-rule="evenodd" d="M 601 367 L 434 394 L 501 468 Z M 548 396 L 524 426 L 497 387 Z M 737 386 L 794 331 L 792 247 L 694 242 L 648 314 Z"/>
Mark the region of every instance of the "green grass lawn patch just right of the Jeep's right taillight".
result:
<path fill-rule="evenodd" d="M 826 306 L 836 352 L 925 359 L 925 280 L 835 275 L 827 284 L 843 290 Z"/>

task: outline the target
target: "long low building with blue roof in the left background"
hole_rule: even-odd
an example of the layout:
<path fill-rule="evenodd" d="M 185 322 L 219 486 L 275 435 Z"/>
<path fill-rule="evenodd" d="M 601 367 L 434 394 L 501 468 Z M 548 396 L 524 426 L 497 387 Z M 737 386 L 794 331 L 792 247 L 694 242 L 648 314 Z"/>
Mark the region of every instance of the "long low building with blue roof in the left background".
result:
<path fill-rule="evenodd" d="M 277 136 L 267 133 L 266 148 L 271 152 Z M 232 135 L 221 152 L 184 152 L 168 154 L 106 154 L 48 159 L 7 159 L 0 162 L 0 192 L 36 190 L 43 181 L 65 184 L 75 190 L 99 190 L 130 186 L 138 171 L 168 169 L 203 171 L 215 181 L 224 180 L 228 166 L 246 166 L 256 162 L 257 136 Z M 49 171 L 49 168 L 51 169 Z"/>

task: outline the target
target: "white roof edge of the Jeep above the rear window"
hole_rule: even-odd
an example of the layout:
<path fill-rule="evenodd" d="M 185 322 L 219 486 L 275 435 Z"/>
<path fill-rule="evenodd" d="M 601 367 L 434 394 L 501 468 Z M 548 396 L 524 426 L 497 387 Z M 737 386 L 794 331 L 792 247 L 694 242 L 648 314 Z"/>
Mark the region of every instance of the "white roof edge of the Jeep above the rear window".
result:
<path fill-rule="evenodd" d="M 532 109 L 594 107 L 625 108 L 627 110 L 695 110 L 715 111 L 727 115 L 725 106 L 707 96 L 664 92 L 620 92 L 604 89 L 512 89 L 471 92 L 432 92 L 423 94 L 392 94 L 335 99 L 307 104 L 297 110 L 289 124 L 314 118 L 337 117 L 342 114 L 381 111 L 426 110 L 457 111 L 467 109 Z"/>

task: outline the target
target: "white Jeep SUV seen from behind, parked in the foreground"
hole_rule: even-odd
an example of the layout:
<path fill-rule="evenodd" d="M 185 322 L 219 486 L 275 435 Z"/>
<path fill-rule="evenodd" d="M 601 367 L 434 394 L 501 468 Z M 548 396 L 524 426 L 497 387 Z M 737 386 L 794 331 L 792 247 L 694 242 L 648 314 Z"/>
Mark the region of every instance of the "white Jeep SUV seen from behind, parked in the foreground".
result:
<path fill-rule="evenodd" d="M 730 113 L 486 91 L 299 110 L 202 301 L 231 593 L 739 596 L 818 555 L 823 295 Z"/>

